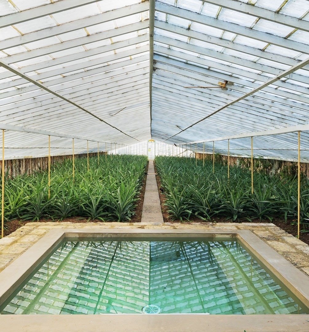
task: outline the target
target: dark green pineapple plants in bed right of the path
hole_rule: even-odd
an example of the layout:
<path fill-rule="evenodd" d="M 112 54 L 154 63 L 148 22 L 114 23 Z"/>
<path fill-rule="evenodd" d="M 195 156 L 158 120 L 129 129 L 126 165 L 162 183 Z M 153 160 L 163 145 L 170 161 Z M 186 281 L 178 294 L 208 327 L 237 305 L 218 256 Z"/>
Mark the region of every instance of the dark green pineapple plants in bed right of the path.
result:
<path fill-rule="evenodd" d="M 259 167 L 270 166 L 263 162 L 259 160 Z M 231 166 L 228 179 L 227 166 L 216 163 L 213 174 L 211 160 L 205 159 L 203 167 L 203 160 L 195 166 L 193 158 L 159 156 L 155 163 L 172 219 L 297 218 L 297 177 L 255 171 L 252 194 L 251 170 L 244 167 Z M 305 232 L 309 228 L 309 180 L 303 176 L 301 183 L 300 218 Z"/>

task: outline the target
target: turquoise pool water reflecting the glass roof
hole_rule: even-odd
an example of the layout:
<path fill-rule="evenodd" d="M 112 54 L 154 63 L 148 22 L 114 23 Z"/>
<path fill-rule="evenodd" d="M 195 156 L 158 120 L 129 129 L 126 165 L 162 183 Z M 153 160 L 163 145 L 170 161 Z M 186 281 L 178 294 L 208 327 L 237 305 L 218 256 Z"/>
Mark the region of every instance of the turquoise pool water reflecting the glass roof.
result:
<path fill-rule="evenodd" d="M 67 241 L 1 314 L 302 314 L 306 308 L 239 243 Z"/>

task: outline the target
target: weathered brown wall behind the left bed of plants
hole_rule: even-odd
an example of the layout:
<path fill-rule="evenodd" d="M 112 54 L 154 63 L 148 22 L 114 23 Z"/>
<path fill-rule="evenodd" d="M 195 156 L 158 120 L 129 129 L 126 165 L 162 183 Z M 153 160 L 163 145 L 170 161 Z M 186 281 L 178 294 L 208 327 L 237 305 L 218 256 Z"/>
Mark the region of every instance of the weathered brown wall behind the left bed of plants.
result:
<path fill-rule="evenodd" d="M 105 155 L 105 152 L 99 152 Z M 89 153 L 89 157 L 97 156 L 97 152 Z M 75 154 L 75 158 L 87 157 L 87 153 Z M 50 164 L 61 162 L 65 159 L 72 159 L 72 155 L 50 156 Z M 32 174 L 37 171 L 44 171 L 48 168 L 48 156 L 40 158 L 22 158 L 4 160 L 4 171 L 8 172 L 9 177 L 22 174 Z M 2 161 L 0 162 L 0 172 L 2 171 Z"/>

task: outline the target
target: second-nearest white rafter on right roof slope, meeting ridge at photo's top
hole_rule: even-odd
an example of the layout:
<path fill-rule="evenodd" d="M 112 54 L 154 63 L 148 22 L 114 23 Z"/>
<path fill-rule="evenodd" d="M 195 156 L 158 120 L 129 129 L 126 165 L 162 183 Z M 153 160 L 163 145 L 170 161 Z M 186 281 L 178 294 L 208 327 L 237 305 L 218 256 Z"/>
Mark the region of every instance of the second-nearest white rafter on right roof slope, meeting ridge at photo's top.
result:
<path fill-rule="evenodd" d="M 221 29 L 223 31 L 229 31 L 237 35 L 253 38 L 259 41 L 264 41 L 267 43 L 271 43 L 273 45 L 309 54 L 308 44 L 292 41 L 289 39 L 271 35 L 269 33 L 261 32 L 258 30 L 253 30 L 247 27 L 239 26 L 235 23 L 222 21 L 206 15 L 197 14 L 187 9 L 182 9 L 174 7 L 172 5 L 165 4 L 161 1 L 156 1 L 156 11 L 176 16 L 192 22 L 200 23 L 206 26 L 211 26 L 213 28 Z"/>

